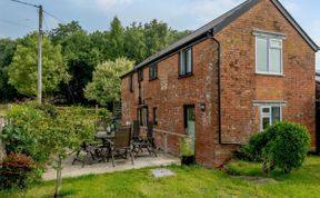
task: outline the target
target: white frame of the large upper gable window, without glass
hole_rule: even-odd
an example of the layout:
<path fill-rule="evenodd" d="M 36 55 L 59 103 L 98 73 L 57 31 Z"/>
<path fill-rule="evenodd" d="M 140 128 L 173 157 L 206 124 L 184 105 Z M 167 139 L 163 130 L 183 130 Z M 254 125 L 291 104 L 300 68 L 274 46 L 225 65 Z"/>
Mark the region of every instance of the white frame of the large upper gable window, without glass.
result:
<path fill-rule="evenodd" d="M 268 70 L 270 68 L 270 50 L 271 49 L 280 49 L 280 72 L 270 72 L 270 71 L 259 71 L 258 69 L 258 39 L 267 39 L 267 67 Z M 280 41 L 281 47 L 272 47 L 271 41 Z M 263 37 L 263 36 L 256 36 L 256 73 L 259 75 L 270 75 L 270 76 L 283 76 L 283 44 L 282 39 L 279 38 L 270 38 L 270 37 Z"/>

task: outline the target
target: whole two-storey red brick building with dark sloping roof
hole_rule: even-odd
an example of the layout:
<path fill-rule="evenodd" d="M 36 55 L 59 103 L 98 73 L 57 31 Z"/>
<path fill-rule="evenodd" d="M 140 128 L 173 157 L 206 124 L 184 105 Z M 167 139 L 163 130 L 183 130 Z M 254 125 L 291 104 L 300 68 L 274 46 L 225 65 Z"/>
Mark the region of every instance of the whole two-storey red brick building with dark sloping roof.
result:
<path fill-rule="evenodd" d="M 278 0 L 247 0 L 122 76 L 122 121 L 189 133 L 208 167 L 278 120 L 304 125 L 314 150 L 318 50 Z"/>

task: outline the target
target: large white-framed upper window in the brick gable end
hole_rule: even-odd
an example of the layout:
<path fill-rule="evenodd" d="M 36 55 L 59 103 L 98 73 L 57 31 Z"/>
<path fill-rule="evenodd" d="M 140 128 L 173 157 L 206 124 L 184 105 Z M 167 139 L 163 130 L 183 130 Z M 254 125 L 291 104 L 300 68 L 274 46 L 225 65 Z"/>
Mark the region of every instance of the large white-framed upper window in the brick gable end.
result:
<path fill-rule="evenodd" d="M 274 38 L 256 38 L 257 73 L 282 75 L 282 40 Z"/>

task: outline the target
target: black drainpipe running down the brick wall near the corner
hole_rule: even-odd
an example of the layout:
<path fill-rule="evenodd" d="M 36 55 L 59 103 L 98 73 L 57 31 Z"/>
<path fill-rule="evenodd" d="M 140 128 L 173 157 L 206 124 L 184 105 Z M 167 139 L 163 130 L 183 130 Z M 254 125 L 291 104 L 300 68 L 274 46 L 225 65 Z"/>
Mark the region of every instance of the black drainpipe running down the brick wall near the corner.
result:
<path fill-rule="evenodd" d="M 240 142 L 223 142 L 222 141 L 222 112 L 221 112 L 221 46 L 220 42 L 214 38 L 214 30 L 208 31 L 208 38 L 212 39 L 218 44 L 218 60 L 217 60 L 217 67 L 218 67 L 218 122 L 219 122 L 219 143 L 220 145 L 243 145 Z"/>

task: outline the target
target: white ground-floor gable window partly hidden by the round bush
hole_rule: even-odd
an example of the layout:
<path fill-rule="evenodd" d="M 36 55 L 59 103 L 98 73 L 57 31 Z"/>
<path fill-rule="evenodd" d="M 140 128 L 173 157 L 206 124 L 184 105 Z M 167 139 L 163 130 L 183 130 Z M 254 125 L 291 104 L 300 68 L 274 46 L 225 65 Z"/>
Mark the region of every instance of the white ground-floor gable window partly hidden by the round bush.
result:
<path fill-rule="evenodd" d="M 269 106 L 262 106 L 261 107 L 261 126 L 260 130 L 263 131 L 266 130 L 269 126 L 282 121 L 282 112 L 281 112 L 281 107 L 274 106 L 274 107 L 269 107 Z"/>

